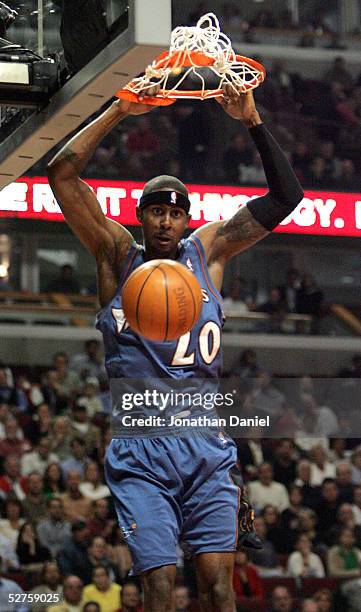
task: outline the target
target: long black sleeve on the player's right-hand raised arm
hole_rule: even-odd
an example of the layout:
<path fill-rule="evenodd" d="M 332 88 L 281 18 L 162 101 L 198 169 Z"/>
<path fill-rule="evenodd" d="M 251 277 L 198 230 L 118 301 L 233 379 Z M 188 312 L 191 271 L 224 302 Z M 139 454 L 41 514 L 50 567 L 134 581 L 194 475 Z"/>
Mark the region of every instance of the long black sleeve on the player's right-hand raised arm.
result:
<path fill-rule="evenodd" d="M 261 123 L 249 133 L 261 156 L 269 191 L 247 204 L 252 216 L 268 231 L 272 231 L 296 208 L 303 190 L 286 155 Z"/>

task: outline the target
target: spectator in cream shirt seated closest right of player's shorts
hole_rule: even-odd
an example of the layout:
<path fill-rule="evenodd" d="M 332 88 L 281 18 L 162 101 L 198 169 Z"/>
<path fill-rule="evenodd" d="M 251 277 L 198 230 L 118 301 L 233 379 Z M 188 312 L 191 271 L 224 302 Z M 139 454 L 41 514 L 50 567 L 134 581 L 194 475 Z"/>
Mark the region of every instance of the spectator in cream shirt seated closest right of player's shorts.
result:
<path fill-rule="evenodd" d="M 290 505 L 286 487 L 273 480 L 273 470 L 269 463 L 263 463 L 258 470 L 259 480 L 248 484 L 248 491 L 252 506 L 262 510 L 267 504 L 272 504 L 283 512 Z"/>

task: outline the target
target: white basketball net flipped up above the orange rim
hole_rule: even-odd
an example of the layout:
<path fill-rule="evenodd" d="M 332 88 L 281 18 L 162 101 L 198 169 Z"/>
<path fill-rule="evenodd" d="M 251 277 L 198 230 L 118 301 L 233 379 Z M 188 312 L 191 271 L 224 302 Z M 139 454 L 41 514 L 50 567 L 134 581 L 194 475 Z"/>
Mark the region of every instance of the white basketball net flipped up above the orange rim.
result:
<path fill-rule="evenodd" d="M 192 56 L 194 52 L 214 59 L 206 68 L 219 77 L 218 90 L 207 89 L 201 73 L 205 67 L 197 64 L 194 55 Z M 182 71 L 185 62 L 191 65 Z M 161 60 L 161 66 L 159 63 L 159 60 L 154 60 L 146 68 L 144 75 L 134 79 L 125 89 L 138 94 L 142 90 L 159 85 L 162 90 L 168 90 L 163 92 L 161 97 L 179 98 L 183 97 L 182 91 L 178 90 L 179 86 L 192 75 L 200 79 L 200 93 L 195 92 L 194 96 L 188 93 L 187 97 L 206 99 L 221 95 L 219 90 L 225 85 L 231 85 L 235 91 L 245 93 L 257 87 L 264 79 L 261 70 L 246 61 L 238 61 L 230 39 L 221 32 L 218 19 L 213 13 L 203 15 L 196 26 L 175 28 L 171 35 L 169 53 Z M 169 79 L 179 73 L 181 76 L 177 83 L 168 87 Z"/>

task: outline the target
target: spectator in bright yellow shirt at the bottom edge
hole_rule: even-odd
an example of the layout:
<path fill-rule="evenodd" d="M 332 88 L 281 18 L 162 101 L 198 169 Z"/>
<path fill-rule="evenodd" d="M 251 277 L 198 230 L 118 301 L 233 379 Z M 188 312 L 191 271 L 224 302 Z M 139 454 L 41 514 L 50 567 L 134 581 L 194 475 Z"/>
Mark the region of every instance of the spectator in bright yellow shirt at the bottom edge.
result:
<path fill-rule="evenodd" d="M 97 565 L 92 578 L 93 582 L 84 587 L 83 602 L 96 601 L 102 612 L 114 612 L 119 609 L 122 587 L 111 581 L 107 568 Z"/>

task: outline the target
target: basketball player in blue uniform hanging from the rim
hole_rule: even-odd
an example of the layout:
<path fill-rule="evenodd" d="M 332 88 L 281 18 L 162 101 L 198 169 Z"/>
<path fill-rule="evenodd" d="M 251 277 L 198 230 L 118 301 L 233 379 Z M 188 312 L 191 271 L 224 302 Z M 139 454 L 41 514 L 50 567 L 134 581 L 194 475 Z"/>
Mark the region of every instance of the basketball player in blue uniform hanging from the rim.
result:
<path fill-rule="evenodd" d="M 154 93 L 149 90 L 149 95 Z M 225 264 L 277 227 L 301 201 L 303 192 L 286 156 L 262 123 L 253 94 L 238 95 L 227 88 L 218 102 L 248 128 L 262 159 L 268 193 L 250 201 L 228 221 L 208 223 L 182 240 L 190 219 L 188 191 L 174 177 L 156 177 L 145 185 L 137 206 L 144 246 L 136 244 L 128 230 L 103 215 L 93 191 L 79 175 L 100 140 L 119 121 L 149 112 L 151 107 L 142 101 L 116 101 L 75 136 L 49 164 L 50 184 L 66 221 L 96 259 L 102 306 L 97 325 L 104 337 L 109 377 L 132 379 L 138 374 L 174 382 L 187 379 L 190 386 L 194 379 L 214 382 L 222 366 L 220 289 Z M 198 322 L 175 342 L 147 341 L 132 332 L 122 317 L 125 279 L 155 258 L 184 264 L 203 289 Z M 202 407 L 192 408 L 192 415 L 197 411 L 202 413 Z M 174 407 L 165 412 L 174 415 Z M 239 488 L 229 478 L 236 463 L 233 441 L 213 429 L 154 426 L 144 433 L 134 426 L 129 431 L 122 415 L 117 418 L 107 451 L 106 478 L 134 571 L 142 578 L 145 611 L 174 610 L 176 544 L 181 539 L 194 558 L 201 609 L 234 612 Z"/>

